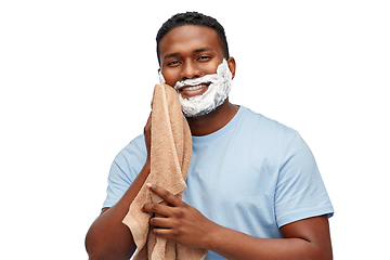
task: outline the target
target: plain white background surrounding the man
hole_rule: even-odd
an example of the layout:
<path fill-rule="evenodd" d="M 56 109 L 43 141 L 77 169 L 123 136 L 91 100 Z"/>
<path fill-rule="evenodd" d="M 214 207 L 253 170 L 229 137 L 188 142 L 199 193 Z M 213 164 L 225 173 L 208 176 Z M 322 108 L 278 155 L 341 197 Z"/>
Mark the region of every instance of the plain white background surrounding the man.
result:
<path fill-rule="evenodd" d="M 1 253 L 87 259 L 110 164 L 150 113 L 156 32 L 184 11 L 225 27 L 231 101 L 312 148 L 335 259 L 389 259 L 390 8 L 376 0 L 1 1 Z"/>

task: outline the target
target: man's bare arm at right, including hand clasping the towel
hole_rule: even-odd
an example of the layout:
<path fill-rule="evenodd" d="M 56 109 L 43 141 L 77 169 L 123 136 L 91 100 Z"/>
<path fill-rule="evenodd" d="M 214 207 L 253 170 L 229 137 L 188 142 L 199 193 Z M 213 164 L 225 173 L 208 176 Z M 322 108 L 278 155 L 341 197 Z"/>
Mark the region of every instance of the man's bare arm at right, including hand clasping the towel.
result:
<path fill-rule="evenodd" d="M 165 218 L 152 218 L 156 235 L 188 247 L 210 249 L 227 259 L 333 259 L 328 220 L 326 216 L 300 220 L 281 227 L 285 238 L 258 238 L 218 225 L 198 210 L 156 185 L 150 190 L 169 206 L 146 204 L 145 212 Z"/>

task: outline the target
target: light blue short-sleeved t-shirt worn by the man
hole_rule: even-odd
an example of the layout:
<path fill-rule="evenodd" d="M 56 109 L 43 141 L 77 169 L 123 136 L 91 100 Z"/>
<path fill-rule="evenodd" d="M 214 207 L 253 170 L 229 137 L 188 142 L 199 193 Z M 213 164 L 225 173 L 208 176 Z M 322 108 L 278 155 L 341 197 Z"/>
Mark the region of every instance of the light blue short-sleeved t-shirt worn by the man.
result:
<path fill-rule="evenodd" d="M 115 158 L 103 207 L 115 205 L 146 160 L 143 135 Z M 262 238 L 333 207 L 314 157 L 299 133 L 240 106 L 222 129 L 193 136 L 183 200 L 211 221 Z M 206 258 L 224 259 L 210 251 Z"/>

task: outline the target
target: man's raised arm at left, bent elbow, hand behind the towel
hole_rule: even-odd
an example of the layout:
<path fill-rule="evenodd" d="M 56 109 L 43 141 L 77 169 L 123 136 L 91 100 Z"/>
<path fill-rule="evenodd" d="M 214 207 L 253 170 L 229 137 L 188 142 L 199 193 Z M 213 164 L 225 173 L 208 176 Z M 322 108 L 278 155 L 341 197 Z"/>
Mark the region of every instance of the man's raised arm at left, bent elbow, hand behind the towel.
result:
<path fill-rule="evenodd" d="M 120 200 L 112 208 L 102 209 L 87 233 L 86 249 L 90 260 L 128 260 L 135 250 L 132 234 L 122 220 L 151 172 L 151 117 L 145 126 L 144 134 L 147 150 L 144 167 Z"/>

